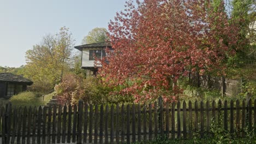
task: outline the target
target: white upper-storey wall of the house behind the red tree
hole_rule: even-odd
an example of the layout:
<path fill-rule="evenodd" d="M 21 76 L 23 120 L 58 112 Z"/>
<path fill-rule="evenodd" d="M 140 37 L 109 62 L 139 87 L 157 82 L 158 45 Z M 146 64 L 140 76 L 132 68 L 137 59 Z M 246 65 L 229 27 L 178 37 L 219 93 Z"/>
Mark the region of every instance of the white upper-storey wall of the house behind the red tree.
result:
<path fill-rule="evenodd" d="M 89 51 L 90 50 L 101 50 L 102 48 L 95 49 L 83 49 L 82 52 L 82 67 L 94 67 L 94 61 L 89 61 Z"/>

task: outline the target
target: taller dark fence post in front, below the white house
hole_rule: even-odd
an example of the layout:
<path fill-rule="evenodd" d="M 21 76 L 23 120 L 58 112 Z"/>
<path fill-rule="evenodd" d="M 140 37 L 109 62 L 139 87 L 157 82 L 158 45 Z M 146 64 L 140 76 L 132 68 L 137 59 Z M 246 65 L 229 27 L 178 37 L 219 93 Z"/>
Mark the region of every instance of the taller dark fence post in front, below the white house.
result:
<path fill-rule="evenodd" d="M 82 143 L 83 107 L 84 107 L 83 100 L 79 100 L 79 102 L 78 102 L 78 123 L 77 123 L 78 143 Z"/>

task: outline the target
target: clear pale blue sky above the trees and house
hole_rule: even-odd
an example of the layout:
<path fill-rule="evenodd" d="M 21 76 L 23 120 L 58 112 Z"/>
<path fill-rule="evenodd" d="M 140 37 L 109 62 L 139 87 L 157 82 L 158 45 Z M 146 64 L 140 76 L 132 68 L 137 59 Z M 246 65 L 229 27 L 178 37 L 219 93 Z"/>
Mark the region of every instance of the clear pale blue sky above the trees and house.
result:
<path fill-rule="evenodd" d="M 26 64 L 25 52 L 66 26 L 80 45 L 95 27 L 107 28 L 125 0 L 0 0 L 0 66 Z"/>

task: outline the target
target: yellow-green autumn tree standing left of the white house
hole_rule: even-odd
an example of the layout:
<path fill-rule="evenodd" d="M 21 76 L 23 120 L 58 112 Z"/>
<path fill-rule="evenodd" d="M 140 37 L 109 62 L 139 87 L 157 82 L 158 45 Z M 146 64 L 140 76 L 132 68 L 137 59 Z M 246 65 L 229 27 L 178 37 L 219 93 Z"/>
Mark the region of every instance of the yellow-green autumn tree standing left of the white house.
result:
<path fill-rule="evenodd" d="M 69 70 L 74 40 L 69 28 L 60 28 L 55 35 L 46 35 L 40 44 L 26 52 L 25 76 L 34 81 L 34 90 L 48 91 Z"/>

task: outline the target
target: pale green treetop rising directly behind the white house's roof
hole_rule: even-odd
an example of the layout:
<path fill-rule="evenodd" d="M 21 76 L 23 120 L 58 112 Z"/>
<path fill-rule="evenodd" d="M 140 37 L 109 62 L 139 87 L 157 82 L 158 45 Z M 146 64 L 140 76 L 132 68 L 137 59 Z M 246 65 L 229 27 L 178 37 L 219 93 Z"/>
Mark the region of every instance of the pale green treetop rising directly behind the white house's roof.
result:
<path fill-rule="evenodd" d="M 92 44 L 92 43 L 101 43 L 108 39 L 107 37 L 107 29 L 106 28 L 94 28 L 92 29 L 88 35 L 86 35 L 82 44 Z"/>

